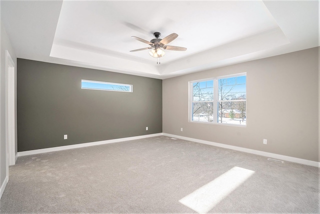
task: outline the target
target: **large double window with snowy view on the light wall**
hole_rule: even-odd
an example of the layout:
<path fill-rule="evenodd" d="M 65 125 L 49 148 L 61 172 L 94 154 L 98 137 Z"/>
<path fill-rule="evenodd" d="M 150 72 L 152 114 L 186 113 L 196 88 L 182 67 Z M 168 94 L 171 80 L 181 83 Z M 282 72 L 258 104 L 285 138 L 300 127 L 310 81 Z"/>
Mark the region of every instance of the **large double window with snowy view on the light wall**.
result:
<path fill-rule="evenodd" d="M 190 82 L 190 121 L 246 125 L 246 73 Z"/>

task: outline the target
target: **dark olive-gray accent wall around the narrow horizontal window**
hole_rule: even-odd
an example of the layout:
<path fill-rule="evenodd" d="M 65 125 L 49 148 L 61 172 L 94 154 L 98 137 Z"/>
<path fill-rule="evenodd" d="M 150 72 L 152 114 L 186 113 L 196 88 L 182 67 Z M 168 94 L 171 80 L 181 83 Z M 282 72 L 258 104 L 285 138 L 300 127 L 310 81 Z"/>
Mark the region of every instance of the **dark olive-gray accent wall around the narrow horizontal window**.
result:
<path fill-rule="evenodd" d="M 133 92 L 81 89 L 81 79 Z M 160 132 L 162 80 L 17 59 L 18 151 Z"/>

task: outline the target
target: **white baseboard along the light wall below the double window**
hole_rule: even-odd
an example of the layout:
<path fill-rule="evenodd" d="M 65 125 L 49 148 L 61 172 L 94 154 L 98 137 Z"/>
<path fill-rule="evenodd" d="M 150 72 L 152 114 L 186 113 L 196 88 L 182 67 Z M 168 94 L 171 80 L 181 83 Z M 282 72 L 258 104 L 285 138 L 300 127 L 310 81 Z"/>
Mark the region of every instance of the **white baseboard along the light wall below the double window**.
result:
<path fill-rule="evenodd" d="M 201 139 L 195 139 L 195 138 L 190 138 L 190 137 L 185 137 L 185 136 L 179 136 L 179 135 L 174 135 L 174 134 L 163 133 L 163 135 L 169 136 L 169 137 L 174 137 L 174 138 L 179 138 L 179 139 L 184 139 L 184 140 L 189 140 L 189 141 L 193 141 L 193 142 L 204 143 L 204 144 L 208 144 L 208 145 L 214 145 L 214 146 L 218 146 L 218 147 L 222 147 L 222 148 L 229 148 L 229 149 L 233 149 L 233 150 L 237 150 L 237 151 L 243 151 L 243 152 L 247 152 L 247 153 L 251 153 L 251 154 L 272 157 L 272 158 L 286 160 L 286 161 L 290 161 L 290 162 L 296 162 L 296 163 L 301 163 L 301 164 L 305 164 L 305 165 L 320 167 L 320 162 L 316 162 L 316 161 L 312 161 L 312 160 L 290 157 L 290 156 L 285 156 L 285 155 L 281 155 L 281 154 L 275 154 L 275 153 L 270 153 L 270 152 L 265 152 L 265 151 L 254 150 L 254 149 L 250 149 L 250 148 L 243 148 L 243 147 L 239 147 L 239 146 L 227 145 L 227 144 L 211 142 L 211 141 L 201 140 Z"/>

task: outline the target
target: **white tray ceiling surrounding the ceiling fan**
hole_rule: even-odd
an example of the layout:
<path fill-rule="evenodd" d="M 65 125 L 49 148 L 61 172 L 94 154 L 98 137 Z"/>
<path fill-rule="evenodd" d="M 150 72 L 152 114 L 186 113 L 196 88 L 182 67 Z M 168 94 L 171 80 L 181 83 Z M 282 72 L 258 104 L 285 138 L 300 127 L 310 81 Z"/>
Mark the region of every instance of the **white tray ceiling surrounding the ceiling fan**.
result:
<path fill-rule="evenodd" d="M 319 46 L 317 0 L 1 0 L 1 21 L 18 58 L 160 79 Z M 187 50 L 129 52 L 155 31 Z"/>

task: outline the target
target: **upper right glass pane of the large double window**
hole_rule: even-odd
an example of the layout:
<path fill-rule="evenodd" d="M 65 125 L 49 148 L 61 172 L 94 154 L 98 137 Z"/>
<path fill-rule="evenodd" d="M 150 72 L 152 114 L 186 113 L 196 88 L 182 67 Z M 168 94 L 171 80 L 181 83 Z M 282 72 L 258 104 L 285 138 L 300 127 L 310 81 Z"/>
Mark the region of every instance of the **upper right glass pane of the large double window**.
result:
<path fill-rule="evenodd" d="M 245 76 L 218 79 L 218 100 L 246 99 Z"/>

